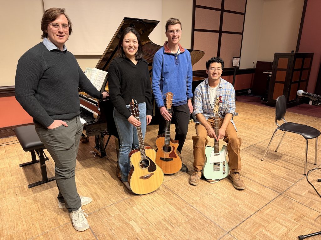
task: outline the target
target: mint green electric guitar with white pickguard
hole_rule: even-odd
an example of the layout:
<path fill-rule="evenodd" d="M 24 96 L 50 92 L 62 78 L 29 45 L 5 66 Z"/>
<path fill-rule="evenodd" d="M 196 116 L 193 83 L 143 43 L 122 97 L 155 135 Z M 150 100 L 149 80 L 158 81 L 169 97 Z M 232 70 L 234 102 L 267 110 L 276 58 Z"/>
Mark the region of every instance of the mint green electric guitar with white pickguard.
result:
<path fill-rule="evenodd" d="M 215 126 L 214 131 L 215 135 L 219 134 L 219 104 L 222 102 L 221 96 L 216 98 L 214 105 L 214 117 L 215 117 Z M 203 175 L 206 179 L 219 181 L 223 178 L 226 178 L 229 175 L 229 164 L 226 161 L 227 147 L 224 145 L 219 151 L 219 141 L 214 139 L 214 146 L 207 146 L 205 148 L 205 164 L 203 167 Z"/>

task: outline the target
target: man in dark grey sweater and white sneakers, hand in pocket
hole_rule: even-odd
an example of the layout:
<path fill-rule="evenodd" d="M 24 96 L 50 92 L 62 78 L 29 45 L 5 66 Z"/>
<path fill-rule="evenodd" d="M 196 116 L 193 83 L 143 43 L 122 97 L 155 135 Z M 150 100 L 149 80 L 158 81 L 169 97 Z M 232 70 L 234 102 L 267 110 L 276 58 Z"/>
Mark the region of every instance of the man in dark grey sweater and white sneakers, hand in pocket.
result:
<path fill-rule="evenodd" d="M 15 97 L 33 117 L 36 132 L 55 162 L 58 207 L 67 208 L 78 231 L 89 228 L 81 206 L 90 197 L 79 196 L 75 182 L 76 156 L 82 134 L 78 87 L 97 99 L 100 93 L 82 72 L 65 42 L 72 24 L 65 9 L 50 8 L 41 20 L 43 42 L 18 61 Z"/>

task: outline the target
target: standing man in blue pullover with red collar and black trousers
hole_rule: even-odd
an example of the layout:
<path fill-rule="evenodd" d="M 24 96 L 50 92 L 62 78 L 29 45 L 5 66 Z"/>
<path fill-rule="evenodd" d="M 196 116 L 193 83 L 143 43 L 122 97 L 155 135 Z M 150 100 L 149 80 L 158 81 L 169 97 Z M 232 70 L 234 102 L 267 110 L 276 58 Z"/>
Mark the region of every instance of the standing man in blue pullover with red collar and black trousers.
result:
<path fill-rule="evenodd" d="M 160 109 L 160 126 L 158 134 L 165 133 L 166 121 L 173 118 L 175 123 L 175 140 L 179 141 L 178 151 L 181 152 L 188 130 L 192 105 L 192 63 L 190 53 L 180 44 L 182 24 L 176 18 L 166 22 L 168 41 L 158 50 L 153 59 L 152 90 L 157 107 Z M 165 107 L 166 93 L 174 95 L 171 113 Z M 188 172 L 182 164 L 182 172 Z"/>

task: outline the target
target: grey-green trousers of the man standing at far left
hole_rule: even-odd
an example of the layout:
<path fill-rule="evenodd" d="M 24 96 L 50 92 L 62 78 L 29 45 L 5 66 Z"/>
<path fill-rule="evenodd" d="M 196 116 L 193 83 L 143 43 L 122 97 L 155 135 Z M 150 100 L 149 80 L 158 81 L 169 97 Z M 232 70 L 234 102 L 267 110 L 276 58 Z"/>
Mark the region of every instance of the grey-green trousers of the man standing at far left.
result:
<path fill-rule="evenodd" d="M 81 207 L 75 182 L 75 168 L 82 124 L 79 116 L 64 121 L 68 127 L 61 125 L 54 129 L 47 129 L 35 123 L 35 129 L 55 162 L 58 201 L 65 203 L 68 211 L 72 212 Z"/>

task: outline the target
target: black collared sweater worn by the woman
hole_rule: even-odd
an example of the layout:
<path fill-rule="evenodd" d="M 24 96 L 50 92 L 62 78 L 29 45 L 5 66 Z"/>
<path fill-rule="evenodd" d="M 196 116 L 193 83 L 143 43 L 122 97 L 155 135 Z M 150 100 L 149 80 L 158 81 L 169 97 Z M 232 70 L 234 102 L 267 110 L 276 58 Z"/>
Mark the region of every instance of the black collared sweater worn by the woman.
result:
<path fill-rule="evenodd" d="M 148 63 L 142 59 L 135 65 L 128 58 L 115 58 L 108 68 L 109 96 L 115 109 L 127 119 L 127 110 L 132 99 L 137 103 L 146 102 L 146 114 L 152 115 L 152 86 Z"/>

